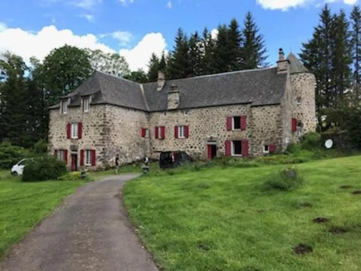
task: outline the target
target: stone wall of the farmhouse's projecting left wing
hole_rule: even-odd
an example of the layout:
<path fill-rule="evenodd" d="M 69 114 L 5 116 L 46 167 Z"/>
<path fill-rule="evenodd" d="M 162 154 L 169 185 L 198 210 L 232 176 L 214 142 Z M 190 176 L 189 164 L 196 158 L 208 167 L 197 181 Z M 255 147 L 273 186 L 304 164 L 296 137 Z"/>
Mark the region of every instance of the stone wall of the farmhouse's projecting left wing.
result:
<path fill-rule="evenodd" d="M 82 122 L 81 139 L 66 138 L 66 124 Z M 80 165 L 80 150 L 96 150 L 96 167 L 113 165 L 116 154 L 121 163 L 130 163 L 137 157 L 143 158 L 149 150 L 148 139 L 140 136 L 140 129 L 147 128 L 147 114 L 142 111 L 126 109 L 110 105 L 91 105 L 89 112 L 82 112 L 80 107 L 70 107 L 66 114 L 60 109 L 50 111 L 49 147 L 68 150 L 68 165 L 70 154 L 78 154 Z M 78 147 L 70 151 L 70 146 Z"/>

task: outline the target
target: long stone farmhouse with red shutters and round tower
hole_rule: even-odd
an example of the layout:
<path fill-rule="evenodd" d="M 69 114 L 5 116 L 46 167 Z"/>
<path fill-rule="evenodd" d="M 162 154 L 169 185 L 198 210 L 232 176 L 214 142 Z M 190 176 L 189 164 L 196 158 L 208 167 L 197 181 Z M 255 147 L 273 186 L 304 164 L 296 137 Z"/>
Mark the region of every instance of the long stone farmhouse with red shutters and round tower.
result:
<path fill-rule="evenodd" d="M 283 151 L 316 129 L 314 74 L 279 50 L 277 66 L 139 84 L 94 72 L 50 108 L 50 151 L 72 170 L 161 151 L 195 158 Z"/>

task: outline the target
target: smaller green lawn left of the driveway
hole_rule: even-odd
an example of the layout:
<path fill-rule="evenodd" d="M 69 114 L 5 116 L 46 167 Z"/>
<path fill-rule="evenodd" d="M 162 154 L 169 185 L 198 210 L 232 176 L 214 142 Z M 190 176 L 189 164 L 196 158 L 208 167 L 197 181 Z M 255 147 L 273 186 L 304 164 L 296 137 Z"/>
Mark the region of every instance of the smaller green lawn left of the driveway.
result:
<path fill-rule="evenodd" d="M 85 181 L 21 182 L 0 171 L 0 258 Z"/>

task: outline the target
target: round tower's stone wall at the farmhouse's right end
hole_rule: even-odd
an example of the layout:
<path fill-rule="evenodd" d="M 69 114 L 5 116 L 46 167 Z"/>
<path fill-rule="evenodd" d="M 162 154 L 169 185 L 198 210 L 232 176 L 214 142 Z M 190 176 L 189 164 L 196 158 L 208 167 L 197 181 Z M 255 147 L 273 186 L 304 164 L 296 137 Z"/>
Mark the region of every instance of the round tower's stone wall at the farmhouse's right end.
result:
<path fill-rule="evenodd" d="M 316 131 L 316 78 L 312 73 L 291 74 L 293 117 L 303 124 L 301 134 Z M 300 104 L 297 104 L 300 97 Z"/>

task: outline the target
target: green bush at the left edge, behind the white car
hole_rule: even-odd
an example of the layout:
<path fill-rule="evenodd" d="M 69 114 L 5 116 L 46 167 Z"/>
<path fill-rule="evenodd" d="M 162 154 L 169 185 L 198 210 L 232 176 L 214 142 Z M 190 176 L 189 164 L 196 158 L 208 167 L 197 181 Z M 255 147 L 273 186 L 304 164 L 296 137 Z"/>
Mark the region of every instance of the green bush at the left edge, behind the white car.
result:
<path fill-rule="evenodd" d="M 4 141 L 0 144 L 0 168 L 9 169 L 23 158 L 29 157 L 29 151 Z"/>

